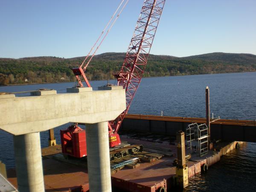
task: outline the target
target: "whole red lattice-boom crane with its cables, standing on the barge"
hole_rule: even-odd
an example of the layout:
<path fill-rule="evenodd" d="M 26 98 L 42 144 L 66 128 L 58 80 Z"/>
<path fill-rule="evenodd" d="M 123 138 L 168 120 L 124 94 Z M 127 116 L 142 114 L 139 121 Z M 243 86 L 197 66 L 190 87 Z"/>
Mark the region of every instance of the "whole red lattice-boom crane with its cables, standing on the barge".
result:
<path fill-rule="evenodd" d="M 117 85 L 125 89 L 126 109 L 115 120 L 108 122 L 110 147 L 115 147 L 121 143 L 118 130 L 125 115 L 128 113 L 131 102 L 143 77 L 165 1 L 166 0 L 144 0 L 122 67 L 119 72 L 113 73 L 113 76 L 117 80 Z M 86 68 L 127 3 L 128 0 L 121 1 L 80 67 L 72 69 L 77 79 L 77 87 L 84 87 L 82 81 L 85 81 L 87 87 L 91 87 L 85 75 Z M 100 39 L 102 40 L 100 41 Z M 97 44 L 98 46 L 96 47 Z M 90 56 L 94 47 L 96 47 L 96 49 Z M 85 138 L 85 131 L 77 124 L 71 125 L 67 130 L 61 130 L 62 152 L 74 157 L 86 156 Z M 75 146 L 77 142 L 80 142 L 80 144 L 81 142 L 84 143 L 80 149 L 77 148 L 78 146 Z"/>

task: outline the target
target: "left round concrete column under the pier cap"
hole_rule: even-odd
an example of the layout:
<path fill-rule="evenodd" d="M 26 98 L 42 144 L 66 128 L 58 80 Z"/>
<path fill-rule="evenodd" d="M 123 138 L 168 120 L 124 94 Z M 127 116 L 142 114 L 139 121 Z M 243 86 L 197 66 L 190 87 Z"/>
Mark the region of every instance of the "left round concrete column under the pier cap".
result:
<path fill-rule="evenodd" d="M 40 133 L 13 136 L 19 192 L 44 192 Z"/>

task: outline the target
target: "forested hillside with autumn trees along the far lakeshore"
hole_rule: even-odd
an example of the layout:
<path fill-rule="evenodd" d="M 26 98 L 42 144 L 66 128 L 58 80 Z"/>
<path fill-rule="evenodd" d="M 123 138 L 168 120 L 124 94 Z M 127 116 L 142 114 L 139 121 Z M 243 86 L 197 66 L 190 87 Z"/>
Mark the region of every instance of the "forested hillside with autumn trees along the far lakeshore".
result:
<path fill-rule="evenodd" d="M 96 55 L 87 67 L 89 80 L 106 79 L 107 74 L 119 71 L 125 53 L 108 52 Z M 74 81 L 73 67 L 84 57 L 0 58 L 0 84 L 25 84 Z M 207 73 L 256 71 L 256 55 L 208 53 L 189 57 L 149 55 L 144 77 L 176 76 Z"/>

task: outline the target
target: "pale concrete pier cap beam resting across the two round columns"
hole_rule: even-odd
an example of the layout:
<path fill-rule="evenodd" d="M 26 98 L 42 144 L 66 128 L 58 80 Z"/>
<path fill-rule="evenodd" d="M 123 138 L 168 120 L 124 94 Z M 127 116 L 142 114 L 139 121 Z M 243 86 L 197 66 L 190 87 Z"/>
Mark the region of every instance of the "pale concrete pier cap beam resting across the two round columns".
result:
<path fill-rule="evenodd" d="M 119 86 L 120 87 L 120 86 Z M 68 88 L 68 93 L 41 91 L 40 96 L 0 95 L 0 129 L 14 135 L 47 131 L 68 122 L 97 123 L 125 110 L 125 90 Z"/>

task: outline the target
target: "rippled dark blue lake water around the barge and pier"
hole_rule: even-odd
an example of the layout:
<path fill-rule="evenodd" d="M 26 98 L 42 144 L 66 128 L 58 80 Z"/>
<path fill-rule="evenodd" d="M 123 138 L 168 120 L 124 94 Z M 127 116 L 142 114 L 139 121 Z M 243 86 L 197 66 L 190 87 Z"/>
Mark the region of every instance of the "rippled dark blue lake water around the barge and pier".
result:
<path fill-rule="evenodd" d="M 115 83 L 111 81 L 110 83 Z M 106 81 L 91 81 L 93 89 Z M 0 87 L 0 92 L 55 89 L 65 93 L 74 83 L 33 84 Z M 205 88 L 210 89 L 210 109 L 222 119 L 256 119 L 256 72 L 195 76 L 144 78 L 131 104 L 129 113 L 205 117 Z M 26 96 L 28 94 L 18 94 Z M 55 128 L 57 143 L 59 130 Z M 41 146 L 48 145 L 48 132 L 41 132 Z M 14 167 L 12 135 L 0 130 L 0 160 Z M 209 168 L 208 174 L 189 180 L 186 191 L 224 192 L 256 191 L 256 143 L 246 143 Z"/>

